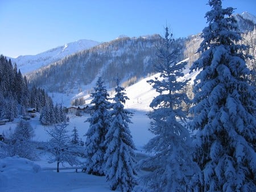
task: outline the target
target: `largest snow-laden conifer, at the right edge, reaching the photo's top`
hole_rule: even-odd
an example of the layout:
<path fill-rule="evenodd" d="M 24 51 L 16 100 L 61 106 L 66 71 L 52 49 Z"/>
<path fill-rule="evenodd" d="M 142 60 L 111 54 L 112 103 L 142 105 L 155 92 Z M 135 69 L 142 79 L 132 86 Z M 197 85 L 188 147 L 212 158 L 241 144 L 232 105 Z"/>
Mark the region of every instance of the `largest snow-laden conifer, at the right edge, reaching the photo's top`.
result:
<path fill-rule="evenodd" d="M 210 0 L 209 26 L 201 36 L 200 58 L 191 70 L 201 70 L 193 89 L 196 132 L 195 158 L 203 191 L 256 190 L 256 101 L 236 32 L 232 7 Z"/>

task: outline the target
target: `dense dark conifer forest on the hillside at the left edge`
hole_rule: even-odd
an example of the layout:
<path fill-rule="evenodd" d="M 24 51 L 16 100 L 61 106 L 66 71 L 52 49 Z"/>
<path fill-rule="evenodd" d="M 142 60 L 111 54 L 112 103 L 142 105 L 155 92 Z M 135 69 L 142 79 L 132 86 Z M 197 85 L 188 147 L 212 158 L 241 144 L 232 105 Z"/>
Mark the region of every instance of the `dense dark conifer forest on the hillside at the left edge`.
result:
<path fill-rule="evenodd" d="M 16 64 L 0 56 L 0 120 L 13 121 L 18 115 L 24 115 L 26 108 L 36 108 L 41 111 L 52 99 L 43 89 L 32 86 L 28 88 L 26 76 L 22 76 Z"/>

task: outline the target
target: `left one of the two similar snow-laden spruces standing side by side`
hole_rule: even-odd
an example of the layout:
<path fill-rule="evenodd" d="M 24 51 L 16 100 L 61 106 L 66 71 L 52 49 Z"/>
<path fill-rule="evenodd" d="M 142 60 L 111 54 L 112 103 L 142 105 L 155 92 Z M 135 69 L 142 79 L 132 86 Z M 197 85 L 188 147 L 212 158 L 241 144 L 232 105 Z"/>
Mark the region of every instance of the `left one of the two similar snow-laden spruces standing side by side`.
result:
<path fill-rule="evenodd" d="M 85 170 L 88 174 L 104 176 L 104 154 L 106 152 L 104 141 L 109 128 L 110 102 L 108 101 L 108 91 L 101 77 L 98 78 L 91 97 L 93 99 L 90 111 L 93 112 L 92 116 L 86 120 L 86 122 L 90 123 L 90 127 L 85 134 L 85 156 L 87 158 Z"/>

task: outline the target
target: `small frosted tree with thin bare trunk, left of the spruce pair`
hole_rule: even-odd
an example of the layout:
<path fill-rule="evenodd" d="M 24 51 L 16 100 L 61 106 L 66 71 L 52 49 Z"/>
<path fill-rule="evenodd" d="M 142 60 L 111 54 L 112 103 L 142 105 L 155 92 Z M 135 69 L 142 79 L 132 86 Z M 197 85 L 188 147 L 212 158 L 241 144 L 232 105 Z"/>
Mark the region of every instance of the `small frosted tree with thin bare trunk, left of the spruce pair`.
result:
<path fill-rule="evenodd" d="M 51 153 L 49 163 L 57 162 L 57 172 L 60 172 L 59 165 L 67 162 L 69 165 L 79 165 L 77 159 L 76 145 L 71 144 L 67 131 L 67 124 L 61 124 L 46 130 L 51 139 L 48 141 L 47 150 Z"/>

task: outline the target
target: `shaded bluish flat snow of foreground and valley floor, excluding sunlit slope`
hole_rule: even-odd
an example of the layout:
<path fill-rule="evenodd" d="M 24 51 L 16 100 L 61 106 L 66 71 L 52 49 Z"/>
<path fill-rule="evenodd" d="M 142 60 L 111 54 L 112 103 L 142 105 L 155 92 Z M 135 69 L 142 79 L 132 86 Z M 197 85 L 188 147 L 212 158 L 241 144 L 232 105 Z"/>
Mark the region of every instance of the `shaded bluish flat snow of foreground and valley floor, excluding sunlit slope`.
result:
<path fill-rule="evenodd" d="M 132 118 L 133 124 L 130 124 L 130 130 L 133 135 L 134 143 L 143 152 L 143 145 L 152 137 L 148 131 L 150 120 L 146 116 L 146 111 L 134 111 Z M 71 134 L 73 127 L 79 131 L 79 136 L 83 141 L 83 136 L 89 128 L 89 123 L 84 123 L 88 115 L 75 116 L 69 115 L 70 122 L 68 130 Z M 1 132 L 7 135 L 9 130 L 14 130 L 19 119 L 14 122 L 1 126 Z M 46 129 L 39 123 L 39 114 L 36 118 L 30 120 L 31 126 L 35 130 L 35 141 L 47 141 L 49 139 Z M 0 191 L 111 191 L 105 177 L 97 177 L 82 173 L 78 169 L 60 170 L 44 170 L 48 168 L 56 168 L 56 164 L 48 164 L 47 154 L 42 152 L 39 154 L 38 161 L 30 161 L 19 157 L 7 157 L 0 159 Z M 69 165 L 66 165 L 70 167 Z M 60 168 L 63 168 L 60 165 Z"/>

